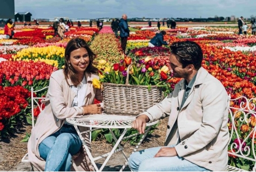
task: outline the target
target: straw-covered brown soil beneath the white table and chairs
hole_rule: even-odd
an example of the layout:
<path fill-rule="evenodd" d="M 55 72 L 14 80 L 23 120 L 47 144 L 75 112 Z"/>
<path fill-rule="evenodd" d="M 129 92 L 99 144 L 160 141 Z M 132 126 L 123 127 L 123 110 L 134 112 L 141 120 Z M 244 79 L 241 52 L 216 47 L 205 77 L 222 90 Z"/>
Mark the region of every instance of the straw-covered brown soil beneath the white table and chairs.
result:
<path fill-rule="evenodd" d="M 159 147 L 164 145 L 167 128 L 167 118 L 160 121 L 160 125 L 154 132 L 147 136 L 140 145 L 138 150 Z M 21 162 L 22 157 L 27 153 L 27 142 L 21 142 L 27 133 L 31 132 L 31 126 L 24 126 L 18 132 L 11 136 L 11 139 L 0 140 L 0 171 L 31 171 L 30 163 Z M 122 142 L 126 155 L 130 155 L 135 148 L 129 142 Z M 110 152 L 112 145 L 103 141 L 92 141 L 92 156 L 96 157 Z M 105 158 L 96 161 L 98 168 L 104 163 Z M 103 171 L 119 171 L 125 163 L 124 156 L 121 152 L 113 154 L 107 162 Z M 125 167 L 123 171 L 131 171 L 129 167 Z"/>

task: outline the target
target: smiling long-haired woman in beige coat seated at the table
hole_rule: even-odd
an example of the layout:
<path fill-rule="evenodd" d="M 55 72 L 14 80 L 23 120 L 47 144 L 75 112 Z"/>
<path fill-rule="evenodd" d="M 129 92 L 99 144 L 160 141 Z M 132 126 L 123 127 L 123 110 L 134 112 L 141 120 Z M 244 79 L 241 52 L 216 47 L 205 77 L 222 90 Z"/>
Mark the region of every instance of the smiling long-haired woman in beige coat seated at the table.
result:
<path fill-rule="evenodd" d="M 72 170 L 94 170 L 75 128 L 65 121 L 77 115 L 102 113 L 100 104 L 93 104 L 95 98 L 103 100 L 101 91 L 92 85 L 92 79 L 98 79 L 94 59 L 83 39 L 71 39 L 65 49 L 64 69 L 51 74 L 45 108 L 28 142 L 29 160 L 38 170 L 70 171 L 73 155 Z M 88 135 L 85 139 L 90 144 Z"/>

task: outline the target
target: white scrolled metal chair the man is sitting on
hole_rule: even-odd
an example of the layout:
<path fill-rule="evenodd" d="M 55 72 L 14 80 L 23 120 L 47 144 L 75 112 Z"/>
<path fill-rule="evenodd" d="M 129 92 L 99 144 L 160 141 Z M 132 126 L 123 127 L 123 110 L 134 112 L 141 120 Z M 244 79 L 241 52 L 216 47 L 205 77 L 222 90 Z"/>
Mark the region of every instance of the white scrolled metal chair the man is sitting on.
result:
<path fill-rule="evenodd" d="M 248 130 L 250 134 L 245 138 L 241 138 L 240 127 L 237 127 L 238 123 L 240 125 L 250 125 L 252 120 L 256 118 L 256 98 L 247 99 L 246 97 L 239 97 L 236 99 L 231 99 L 232 104 L 238 105 L 238 107 L 233 107 L 230 105 L 229 113 L 231 117 L 231 122 L 228 125 L 231 127 L 230 132 L 230 140 L 228 141 L 228 145 L 230 145 L 230 151 L 228 155 L 233 156 L 235 159 L 243 159 L 246 161 L 251 161 L 254 163 L 254 167 L 251 169 L 252 171 L 256 170 L 256 155 L 255 155 L 255 136 L 256 136 L 256 126 L 252 125 L 251 130 Z M 251 117 L 251 118 L 250 118 Z M 234 139 L 237 139 L 234 142 Z M 249 143 L 250 145 L 246 145 Z M 234 166 L 234 164 L 233 164 Z M 227 171 L 248 171 L 250 169 L 245 169 L 245 167 L 233 167 L 232 164 L 228 164 Z"/>

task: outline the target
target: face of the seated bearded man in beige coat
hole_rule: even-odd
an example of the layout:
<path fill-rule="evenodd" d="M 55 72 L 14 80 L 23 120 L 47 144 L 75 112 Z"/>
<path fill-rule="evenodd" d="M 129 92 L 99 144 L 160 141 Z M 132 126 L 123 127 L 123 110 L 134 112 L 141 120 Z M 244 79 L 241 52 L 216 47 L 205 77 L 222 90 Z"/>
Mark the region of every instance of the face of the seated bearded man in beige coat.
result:
<path fill-rule="evenodd" d="M 187 71 L 187 66 L 183 68 L 182 64 L 178 61 L 176 56 L 172 53 L 169 57 L 169 60 L 170 60 L 169 70 L 173 73 L 173 77 L 186 79 L 187 76 L 189 75 Z"/>

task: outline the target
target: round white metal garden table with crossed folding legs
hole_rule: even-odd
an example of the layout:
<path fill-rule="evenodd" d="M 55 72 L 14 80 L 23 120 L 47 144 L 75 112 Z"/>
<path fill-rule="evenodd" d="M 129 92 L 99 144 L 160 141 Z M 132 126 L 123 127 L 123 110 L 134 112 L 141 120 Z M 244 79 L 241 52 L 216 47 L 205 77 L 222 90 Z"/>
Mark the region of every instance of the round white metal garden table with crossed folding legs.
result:
<path fill-rule="evenodd" d="M 124 149 L 122 148 L 122 146 L 120 145 L 120 142 L 124 139 L 133 137 L 135 135 L 138 134 L 132 134 L 130 136 L 126 136 L 124 137 L 125 133 L 127 132 L 127 130 L 129 128 L 132 127 L 132 122 L 136 119 L 136 116 L 125 116 L 125 115 L 110 115 L 110 114 L 94 114 L 94 115 L 85 115 L 85 116 L 77 116 L 76 118 L 68 118 L 66 119 L 67 122 L 71 123 L 73 126 L 75 126 L 77 133 L 80 137 L 80 139 L 83 142 L 83 145 L 85 147 L 86 153 L 89 156 L 93 167 L 95 167 L 96 171 L 102 171 L 103 168 L 105 167 L 106 163 L 109 161 L 110 157 L 117 152 L 122 152 L 124 158 L 125 158 L 125 164 L 123 165 L 123 167 L 120 169 L 120 171 L 122 171 L 128 164 L 128 157 L 125 155 L 124 153 Z M 149 130 L 151 129 L 151 127 L 153 125 L 155 125 L 156 123 L 158 123 L 158 121 L 154 121 L 154 122 L 150 122 L 150 123 L 146 123 L 146 126 L 149 126 L 146 130 L 145 133 L 142 136 L 142 139 L 140 139 L 138 145 L 136 146 L 136 148 L 134 148 L 133 152 L 136 152 L 136 150 L 139 148 L 140 144 L 142 143 L 142 141 L 144 140 L 145 136 L 147 135 L 147 133 L 149 132 Z M 78 129 L 78 126 L 82 126 L 82 127 L 90 127 L 90 130 L 87 130 L 86 132 L 80 132 Z M 94 129 L 93 129 L 94 128 Z M 99 128 L 107 128 L 110 130 L 113 139 L 115 141 L 115 144 L 111 150 L 111 152 L 106 153 L 104 155 L 100 155 L 98 157 L 92 157 L 92 154 L 89 150 L 89 148 L 86 146 L 84 137 L 82 136 L 83 133 L 88 133 L 91 132 L 93 130 L 97 130 Z M 124 131 L 123 133 L 120 135 L 119 139 L 116 138 L 116 136 L 114 135 L 112 129 L 113 128 L 123 128 Z M 118 147 L 118 149 L 117 149 Z M 106 157 L 107 156 L 107 157 Z M 102 164 L 102 166 L 100 167 L 100 169 L 98 169 L 98 167 L 96 166 L 95 161 L 102 159 L 103 157 L 106 157 L 106 160 L 104 161 L 104 163 Z"/>

